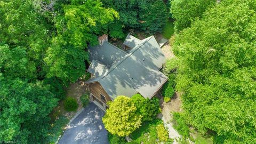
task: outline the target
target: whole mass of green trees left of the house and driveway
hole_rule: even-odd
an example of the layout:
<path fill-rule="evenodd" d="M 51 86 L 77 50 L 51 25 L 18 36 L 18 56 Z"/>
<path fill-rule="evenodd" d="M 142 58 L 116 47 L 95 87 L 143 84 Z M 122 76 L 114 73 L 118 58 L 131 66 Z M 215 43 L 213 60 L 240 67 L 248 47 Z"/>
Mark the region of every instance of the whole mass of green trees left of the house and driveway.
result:
<path fill-rule="evenodd" d="M 0 1 L 0 139 L 43 143 L 63 89 L 85 73 L 87 45 L 118 19 L 99 1 Z"/>

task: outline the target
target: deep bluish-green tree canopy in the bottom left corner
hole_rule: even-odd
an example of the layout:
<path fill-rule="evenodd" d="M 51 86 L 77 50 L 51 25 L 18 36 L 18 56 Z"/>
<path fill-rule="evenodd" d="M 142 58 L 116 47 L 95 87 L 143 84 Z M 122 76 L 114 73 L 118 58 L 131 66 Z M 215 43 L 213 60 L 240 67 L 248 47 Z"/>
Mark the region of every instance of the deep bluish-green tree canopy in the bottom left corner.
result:
<path fill-rule="evenodd" d="M 0 139 L 34 143 L 46 136 L 47 115 L 57 99 L 41 83 L 28 84 L 0 74 Z"/>

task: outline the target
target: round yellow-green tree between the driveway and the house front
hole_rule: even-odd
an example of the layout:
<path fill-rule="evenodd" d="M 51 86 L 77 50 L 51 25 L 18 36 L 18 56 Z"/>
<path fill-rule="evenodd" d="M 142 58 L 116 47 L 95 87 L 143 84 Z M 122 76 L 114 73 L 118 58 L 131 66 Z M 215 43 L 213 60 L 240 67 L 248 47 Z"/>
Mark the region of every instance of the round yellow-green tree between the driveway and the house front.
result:
<path fill-rule="evenodd" d="M 141 116 L 136 114 L 136 110 L 129 97 L 118 96 L 109 102 L 109 109 L 102 118 L 103 124 L 111 134 L 125 137 L 140 127 Z"/>

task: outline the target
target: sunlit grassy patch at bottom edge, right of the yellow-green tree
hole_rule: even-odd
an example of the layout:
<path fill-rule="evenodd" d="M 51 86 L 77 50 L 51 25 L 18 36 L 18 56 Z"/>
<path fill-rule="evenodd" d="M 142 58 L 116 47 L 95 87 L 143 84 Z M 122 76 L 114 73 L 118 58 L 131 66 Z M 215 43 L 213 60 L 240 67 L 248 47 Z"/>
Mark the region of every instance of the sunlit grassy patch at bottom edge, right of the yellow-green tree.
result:
<path fill-rule="evenodd" d="M 155 119 L 153 122 L 144 122 L 141 127 L 135 130 L 131 134 L 131 139 L 135 143 L 151 144 L 156 143 L 157 140 L 157 131 L 156 126 L 162 124 L 161 119 Z"/>

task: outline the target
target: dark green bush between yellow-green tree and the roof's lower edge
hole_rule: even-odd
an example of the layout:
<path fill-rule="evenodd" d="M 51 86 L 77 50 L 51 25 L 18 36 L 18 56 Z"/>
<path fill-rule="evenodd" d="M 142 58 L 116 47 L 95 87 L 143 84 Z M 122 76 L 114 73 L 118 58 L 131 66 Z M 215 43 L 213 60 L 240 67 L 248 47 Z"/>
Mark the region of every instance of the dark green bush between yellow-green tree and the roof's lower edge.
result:
<path fill-rule="evenodd" d="M 159 113 L 159 100 L 143 98 L 140 94 L 134 94 L 132 101 L 137 107 L 137 113 L 142 116 L 142 121 L 152 121 Z"/>

